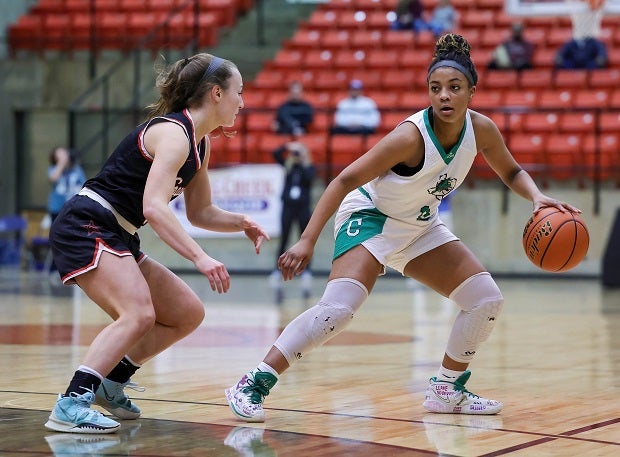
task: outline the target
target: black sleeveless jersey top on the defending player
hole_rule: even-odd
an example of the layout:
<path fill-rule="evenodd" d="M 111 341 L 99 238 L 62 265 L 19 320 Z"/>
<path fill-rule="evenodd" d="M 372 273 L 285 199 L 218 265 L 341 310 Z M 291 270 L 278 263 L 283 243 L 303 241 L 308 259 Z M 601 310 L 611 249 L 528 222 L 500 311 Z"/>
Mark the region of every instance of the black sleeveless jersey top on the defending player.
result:
<path fill-rule="evenodd" d="M 178 197 L 202 166 L 206 153 L 206 140 L 202 138 L 196 142 L 194 122 L 188 110 L 156 117 L 137 126 L 120 142 L 101 171 L 84 184 L 105 198 L 136 227 L 147 223 L 142 212 L 142 197 L 153 163 L 153 157 L 144 146 L 144 134 L 151 125 L 160 122 L 179 124 L 189 140 L 187 160 L 177 173 L 170 200 Z"/>

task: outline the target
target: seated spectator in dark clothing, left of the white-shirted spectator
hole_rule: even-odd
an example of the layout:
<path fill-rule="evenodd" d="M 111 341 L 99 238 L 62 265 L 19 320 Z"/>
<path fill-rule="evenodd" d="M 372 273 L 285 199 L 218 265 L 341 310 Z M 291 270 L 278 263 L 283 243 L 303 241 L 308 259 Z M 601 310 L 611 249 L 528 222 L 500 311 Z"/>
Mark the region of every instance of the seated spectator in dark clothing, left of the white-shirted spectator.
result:
<path fill-rule="evenodd" d="M 276 132 L 292 134 L 296 137 L 308 132 L 314 119 L 314 109 L 304 100 L 303 96 L 304 88 L 301 82 L 291 82 L 289 98 L 280 105 L 273 122 L 273 129 Z"/>

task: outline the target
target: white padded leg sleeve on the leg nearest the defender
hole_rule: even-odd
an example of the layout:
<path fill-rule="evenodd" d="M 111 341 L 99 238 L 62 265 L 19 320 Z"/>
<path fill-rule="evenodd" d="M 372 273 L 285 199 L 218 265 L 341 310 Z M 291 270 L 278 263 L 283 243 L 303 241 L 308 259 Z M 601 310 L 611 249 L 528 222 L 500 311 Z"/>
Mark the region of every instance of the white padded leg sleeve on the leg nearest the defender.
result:
<path fill-rule="evenodd" d="M 293 319 L 273 345 L 292 365 L 344 330 L 366 298 L 368 290 L 355 279 L 329 281 L 321 300 Z"/>

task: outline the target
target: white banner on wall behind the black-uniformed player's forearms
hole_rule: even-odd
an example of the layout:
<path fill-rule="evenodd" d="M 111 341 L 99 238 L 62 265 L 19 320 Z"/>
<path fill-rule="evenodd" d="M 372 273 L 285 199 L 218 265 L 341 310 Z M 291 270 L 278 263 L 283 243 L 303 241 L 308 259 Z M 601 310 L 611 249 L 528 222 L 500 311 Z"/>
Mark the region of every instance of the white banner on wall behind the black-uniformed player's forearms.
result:
<path fill-rule="evenodd" d="M 226 211 L 243 213 L 269 233 L 280 236 L 280 211 L 284 168 L 278 164 L 237 165 L 209 170 L 211 200 Z M 194 238 L 244 237 L 243 232 L 211 232 L 194 227 L 185 215 L 183 194 L 170 207 L 187 233 Z"/>

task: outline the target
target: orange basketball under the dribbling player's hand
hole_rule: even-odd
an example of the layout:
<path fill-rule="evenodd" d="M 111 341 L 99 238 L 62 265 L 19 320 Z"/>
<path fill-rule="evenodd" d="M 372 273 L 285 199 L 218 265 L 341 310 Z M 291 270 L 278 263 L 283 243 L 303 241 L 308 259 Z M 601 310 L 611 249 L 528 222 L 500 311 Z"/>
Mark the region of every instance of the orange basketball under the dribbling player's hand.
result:
<path fill-rule="evenodd" d="M 586 256 L 590 234 L 577 213 L 549 206 L 530 217 L 523 230 L 523 249 L 534 265 L 559 273 L 576 267 Z"/>

